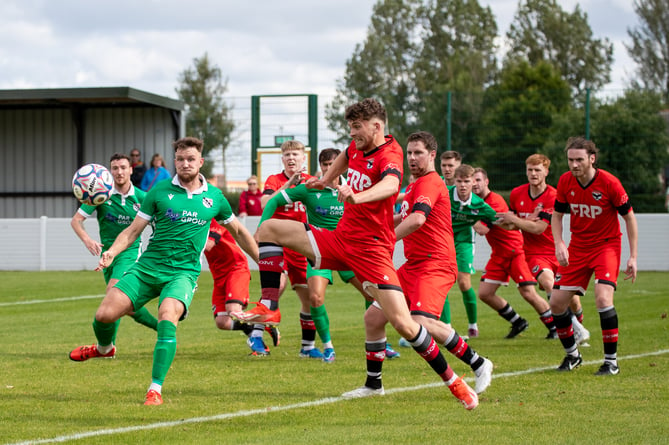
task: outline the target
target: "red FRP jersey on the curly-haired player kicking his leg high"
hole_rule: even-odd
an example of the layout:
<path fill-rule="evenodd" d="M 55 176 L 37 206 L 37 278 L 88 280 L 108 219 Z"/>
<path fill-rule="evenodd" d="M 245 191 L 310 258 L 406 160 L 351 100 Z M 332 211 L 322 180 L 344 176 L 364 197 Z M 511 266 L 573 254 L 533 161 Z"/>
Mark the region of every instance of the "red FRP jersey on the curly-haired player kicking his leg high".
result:
<path fill-rule="evenodd" d="M 367 190 L 388 175 L 402 182 L 404 153 L 395 138 L 388 135 L 386 142 L 368 153 L 355 148 L 355 142 L 346 149 L 348 158 L 347 183 L 353 193 Z M 395 248 L 395 226 L 393 210 L 397 192 L 386 199 L 364 204 L 344 203 L 344 216 L 337 225 L 337 232 L 346 239 L 365 244 L 378 244 L 392 250 Z"/>

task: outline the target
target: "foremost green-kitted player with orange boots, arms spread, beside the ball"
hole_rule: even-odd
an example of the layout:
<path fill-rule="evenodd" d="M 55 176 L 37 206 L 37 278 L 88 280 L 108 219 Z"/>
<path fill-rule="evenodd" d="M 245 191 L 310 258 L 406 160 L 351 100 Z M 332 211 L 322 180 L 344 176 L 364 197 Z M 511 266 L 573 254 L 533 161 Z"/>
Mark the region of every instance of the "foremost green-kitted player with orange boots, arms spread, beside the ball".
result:
<path fill-rule="evenodd" d="M 177 324 L 186 318 L 197 288 L 210 221 L 222 221 L 240 247 L 258 260 L 258 247 L 251 234 L 235 218 L 220 189 L 209 186 L 200 174 L 204 163 L 202 141 L 185 137 L 172 145 L 176 176 L 159 182 L 147 193 L 134 221 L 102 254 L 96 270 L 109 267 L 151 222 L 155 223 L 153 237 L 139 260 L 109 289 L 98 307 L 93 321 L 97 344 L 70 352 L 75 361 L 113 357 L 116 347 L 111 339 L 116 320 L 158 298 L 158 335 L 145 405 L 163 403 L 162 385 L 177 348 Z"/>

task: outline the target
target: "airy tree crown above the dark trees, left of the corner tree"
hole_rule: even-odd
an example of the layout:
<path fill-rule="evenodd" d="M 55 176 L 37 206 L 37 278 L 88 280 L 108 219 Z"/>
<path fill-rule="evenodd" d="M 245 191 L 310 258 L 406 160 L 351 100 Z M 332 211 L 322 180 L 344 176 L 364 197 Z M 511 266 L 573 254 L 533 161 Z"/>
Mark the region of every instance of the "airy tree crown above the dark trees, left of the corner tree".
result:
<path fill-rule="evenodd" d="M 556 0 L 521 0 L 507 39 L 508 57 L 522 57 L 531 65 L 552 63 L 578 96 L 611 79 L 613 44 L 593 38 L 588 15 L 578 4 L 570 14 Z"/>

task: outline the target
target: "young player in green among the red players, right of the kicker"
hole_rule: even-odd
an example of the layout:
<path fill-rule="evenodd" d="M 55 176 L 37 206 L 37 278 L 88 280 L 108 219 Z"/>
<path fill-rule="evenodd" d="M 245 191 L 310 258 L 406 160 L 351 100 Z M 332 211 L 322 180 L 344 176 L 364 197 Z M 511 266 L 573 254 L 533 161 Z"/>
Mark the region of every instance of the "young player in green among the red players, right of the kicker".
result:
<path fill-rule="evenodd" d="M 467 312 L 469 338 L 478 337 L 476 292 L 472 289 L 471 276 L 474 270 L 474 231 L 479 221 L 494 221 L 495 211 L 483 199 L 472 193 L 474 168 L 461 164 L 455 169 L 455 185 L 448 187 L 451 195 L 451 217 L 455 256 L 458 262 L 458 287 Z M 448 299 L 444 303 L 441 320 L 451 323 L 451 307 Z"/>

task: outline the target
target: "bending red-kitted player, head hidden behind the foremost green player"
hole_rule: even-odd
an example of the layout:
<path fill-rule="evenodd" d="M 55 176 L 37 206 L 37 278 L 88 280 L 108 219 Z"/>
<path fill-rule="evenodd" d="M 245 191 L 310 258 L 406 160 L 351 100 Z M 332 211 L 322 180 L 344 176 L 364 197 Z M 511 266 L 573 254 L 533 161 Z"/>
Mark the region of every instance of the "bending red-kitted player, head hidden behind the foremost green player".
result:
<path fill-rule="evenodd" d="M 250 335 L 253 330 L 251 325 L 230 318 L 230 312 L 246 309 L 249 304 L 251 271 L 248 260 L 232 235 L 216 220 L 211 221 L 204 255 L 214 278 L 211 309 L 216 327 L 227 331 L 241 330 Z M 279 330 L 274 326 L 268 330 L 274 346 L 277 346 Z"/>

